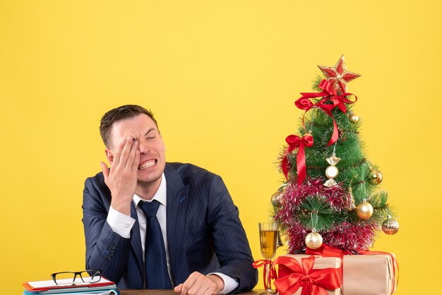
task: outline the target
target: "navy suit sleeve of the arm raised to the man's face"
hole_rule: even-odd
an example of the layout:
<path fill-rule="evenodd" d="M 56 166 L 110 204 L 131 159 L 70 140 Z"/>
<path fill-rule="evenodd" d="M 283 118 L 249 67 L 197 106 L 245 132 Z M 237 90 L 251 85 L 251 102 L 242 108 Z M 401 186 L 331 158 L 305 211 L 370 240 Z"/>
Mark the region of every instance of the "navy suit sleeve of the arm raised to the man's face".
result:
<path fill-rule="evenodd" d="M 95 184 L 92 179 L 86 179 L 83 191 L 86 268 L 101 270 L 104 277 L 118 284 L 126 267 L 130 239 L 121 237 L 109 227 L 106 219 L 110 193 Z"/>

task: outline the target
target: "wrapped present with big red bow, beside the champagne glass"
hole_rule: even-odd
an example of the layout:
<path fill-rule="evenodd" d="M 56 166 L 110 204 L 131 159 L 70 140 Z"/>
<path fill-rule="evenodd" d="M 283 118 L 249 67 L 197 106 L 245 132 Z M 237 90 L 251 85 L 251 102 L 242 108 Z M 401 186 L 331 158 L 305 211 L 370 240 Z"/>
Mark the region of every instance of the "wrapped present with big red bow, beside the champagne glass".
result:
<path fill-rule="evenodd" d="M 315 255 L 282 255 L 275 259 L 275 287 L 280 295 L 340 295 L 341 259 Z"/>

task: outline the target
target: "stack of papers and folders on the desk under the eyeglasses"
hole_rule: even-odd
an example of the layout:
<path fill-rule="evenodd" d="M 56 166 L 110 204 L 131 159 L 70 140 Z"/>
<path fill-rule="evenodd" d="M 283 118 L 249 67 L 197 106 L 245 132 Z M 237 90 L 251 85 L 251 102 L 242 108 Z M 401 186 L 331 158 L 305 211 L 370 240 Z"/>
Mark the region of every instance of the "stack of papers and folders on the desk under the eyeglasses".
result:
<path fill-rule="evenodd" d="M 57 279 L 59 283 L 59 280 Z M 71 280 L 69 280 L 71 282 Z M 68 282 L 66 282 L 68 283 Z M 75 295 L 75 294 L 94 294 L 94 295 L 117 295 L 117 285 L 101 277 L 99 282 L 91 284 L 70 284 L 56 285 L 53 280 L 35 281 L 23 283 L 25 291 L 23 295 L 37 294 L 56 294 L 56 295 Z"/>

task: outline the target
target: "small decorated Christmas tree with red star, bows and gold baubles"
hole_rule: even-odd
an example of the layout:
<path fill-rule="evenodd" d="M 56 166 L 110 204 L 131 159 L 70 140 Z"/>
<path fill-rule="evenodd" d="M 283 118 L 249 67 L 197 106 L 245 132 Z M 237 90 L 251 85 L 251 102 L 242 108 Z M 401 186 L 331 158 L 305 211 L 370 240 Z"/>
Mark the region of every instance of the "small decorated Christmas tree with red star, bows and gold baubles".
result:
<path fill-rule="evenodd" d="M 317 92 L 301 92 L 304 110 L 298 135 L 289 135 L 280 154 L 285 183 L 272 196 L 273 218 L 286 236 L 288 252 L 323 243 L 350 253 L 371 247 L 380 229 L 395 234 L 399 225 L 381 191 L 381 171 L 364 156 L 361 122 L 352 112 L 357 96 L 347 83 L 360 75 L 347 71 L 344 56 L 333 67 L 318 66 Z"/>

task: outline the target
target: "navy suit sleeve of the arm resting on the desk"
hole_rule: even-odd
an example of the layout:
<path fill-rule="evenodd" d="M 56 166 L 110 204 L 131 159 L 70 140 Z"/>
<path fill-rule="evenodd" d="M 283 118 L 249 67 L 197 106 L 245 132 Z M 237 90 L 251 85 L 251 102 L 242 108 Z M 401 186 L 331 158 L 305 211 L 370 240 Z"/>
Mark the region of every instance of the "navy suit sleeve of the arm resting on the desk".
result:
<path fill-rule="evenodd" d="M 215 176 L 210 183 L 208 209 L 211 239 L 220 262 L 220 270 L 216 272 L 237 279 L 239 287 L 234 293 L 253 289 L 258 282 L 258 272 L 252 267 L 249 241 L 239 220 L 238 208 L 220 176 Z"/>

